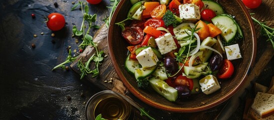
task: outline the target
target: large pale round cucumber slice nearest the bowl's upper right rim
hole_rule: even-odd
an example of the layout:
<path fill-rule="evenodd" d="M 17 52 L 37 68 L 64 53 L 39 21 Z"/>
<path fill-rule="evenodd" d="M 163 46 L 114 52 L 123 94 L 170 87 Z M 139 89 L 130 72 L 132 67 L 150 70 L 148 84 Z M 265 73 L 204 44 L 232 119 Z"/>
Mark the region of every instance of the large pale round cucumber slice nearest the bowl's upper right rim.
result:
<path fill-rule="evenodd" d="M 213 17 L 212 22 L 218 28 L 222 30 L 221 35 L 226 40 L 226 42 L 230 42 L 237 34 L 238 26 L 234 22 L 234 19 L 228 15 L 220 14 Z"/>

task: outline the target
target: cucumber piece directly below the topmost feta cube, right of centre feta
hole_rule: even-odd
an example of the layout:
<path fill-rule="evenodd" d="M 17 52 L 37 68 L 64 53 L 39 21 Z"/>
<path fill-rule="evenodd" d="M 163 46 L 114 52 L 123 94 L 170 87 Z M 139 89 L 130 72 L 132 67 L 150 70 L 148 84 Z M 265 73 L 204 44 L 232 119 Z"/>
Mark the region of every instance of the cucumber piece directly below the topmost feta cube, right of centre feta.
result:
<path fill-rule="evenodd" d="M 191 22 L 181 23 L 180 25 L 173 28 L 173 32 L 178 40 L 183 40 L 185 37 L 189 36 L 186 31 L 189 32 L 190 29 L 192 29 L 194 26 L 195 24 Z"/>

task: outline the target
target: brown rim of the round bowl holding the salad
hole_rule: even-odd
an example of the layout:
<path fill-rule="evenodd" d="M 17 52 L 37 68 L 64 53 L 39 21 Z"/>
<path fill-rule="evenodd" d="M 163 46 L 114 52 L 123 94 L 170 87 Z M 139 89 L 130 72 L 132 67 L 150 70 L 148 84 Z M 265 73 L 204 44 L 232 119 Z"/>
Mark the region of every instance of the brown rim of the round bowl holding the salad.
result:
<path fill-rule="evenodd" d="M 120 0 L 117 8 L 121 8 L 121 5 L 125 2 L 126 0 Z M 244 11 L 244 14 L 247 16 L 247 22 L 249 23 L 249 26 L 250 26 L 250 29 L 251 29 L 251 34 L 252 34 L 252 42 L 253 42 L 253 50 L 252 50 L 252 56 L 251 56 L 251 59 L 250 59 L 250 63 L 248 64 L 248 72 L 245 73 L 245 75 L 243 76 L 243 80 L 240 84 L 238 84 L 233 90 L 231 90 L 230 92 L 228 92 L 226 94 L 226 96 L 220 98 L 220 99 L 217 99 L 216 101 L 212 102 L 212 103 L 209 103 L 209 104 L 206 104 L 206 105 L 203 105 L 203 106 L 199 106 L 199 107 L 194 107 L 194 108 L 179 108 L 179 107 L 171 107 L 171 106 L 167 106 L 167 105 L 164 105 L 164 104 L 160 104 L 160 103 L 157 103 L 157 102 L 154 102 L 153 100 L 151 99 L 147 99 L 144 95 L 142 95 L 137 89 L 135 89 L 129 82 L 127 82 L 127 79 L 125 78 L 125 76 L 123 75 L 123 73 L 121 72 L 120 70 L 120 67 L 116 64 L 117 60 L 115 59 L 115 57 L 113 56 L 113 51 L 111 50 L 113 47 L 111 45 L 111 32 L 109 32 L 109 29 L 112 29 L 113 28 L 113 25 L 114 24 L 110 24 L 109 25 L 109 29 L 108 29 L 108 36 L 107 36 L 107 41 L 108 41 L 108 51 L 109 51 L 109 54 L 110 54 L 110 58 L 111 58 L 111 62 L 113 63 L 113 66 L 114 66 L 114 69 L 116 71 L 116 73 L 118 74 L 119 78 L 121 79 L 121 81 L 123 82 L 123 84 L 126 86 L 126 88 L 128 88 L 128 90 L 133 94 L 135 95 L 137 98 L 139 98 L 141 101 L 145 102 L 146 104 L 150 105 L 150 106 L 153 106 L 155 108 L 159 108 L 159 109 L 162 109 L 162 110 L 167 110 L 167 111 L 172 111 L 172 112 L 197 112 L 197 111 L 203 111 L 203 110 L 206 110 L 206 109 L 209 109 L 209 108 L 212 108 L 212 107 L 215 107 L 225 101 L 227 101 L 230 97 L 232 97 L 238 90 L 240 90 L 240 88 L 246 83 L 246 80 L 247 80 L 247 76 L 248 76 L 248 73 L 250 71 L 250 69 L 252 68 L 252 66 L 254 66 L 255 64 L 255 58 L 256 58 L 256 53 L 257 53 L 257 39 L 256 39 L 256 31 L 255 31 L 255 27 L 254 27 L 254 23 L 253 23 L 253 20 L 251 18 L 251 15 L 248 11 L 248 9 L 246 8 L 246 6 L 244 5 L 244 3 L 242 2 L 242 0 L 236 0 L 240 7 L 243 9 Z M 114 13 L 113 13 L 113 16 L 117 16 L 118 14 L 118 10 L 115 9 Z M 111 18 L 111 22 L 110 23 L 113 23 L 115 22 L 116 17 L 112 17 Z"/>

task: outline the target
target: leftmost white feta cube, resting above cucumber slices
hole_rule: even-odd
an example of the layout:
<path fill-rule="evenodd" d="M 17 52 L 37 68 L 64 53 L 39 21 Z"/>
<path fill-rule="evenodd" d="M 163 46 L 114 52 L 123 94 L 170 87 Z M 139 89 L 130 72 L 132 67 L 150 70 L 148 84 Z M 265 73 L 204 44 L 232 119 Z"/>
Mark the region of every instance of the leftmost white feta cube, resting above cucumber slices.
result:
<path fill-rule="evenodd" d="M 140 53 L 138 53 L 136 58 L 143 68 L 154 66 L 159 61 L 151 47 L 143 49 Z"/>

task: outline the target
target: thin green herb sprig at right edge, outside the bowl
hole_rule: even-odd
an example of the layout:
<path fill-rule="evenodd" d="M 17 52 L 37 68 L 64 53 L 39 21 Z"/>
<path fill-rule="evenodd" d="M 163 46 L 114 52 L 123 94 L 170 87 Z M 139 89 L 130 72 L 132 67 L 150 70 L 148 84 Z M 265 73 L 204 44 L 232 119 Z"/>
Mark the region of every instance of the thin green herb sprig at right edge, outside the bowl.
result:
<path fill-rule="evenodd" d="M 254 13 L 250 13 L 250 14 L 252 15 Z M 266 22 L 261 22 L 252 16 L 251 16 L 251 18 L 253 19 L 254 22 L 258 23 L 261 26 L 261 34 L 263 36 L 268 37 L 267 41 L 271 41 L 273 48 L 274 48 L 274 28 L 267 26 L 265 24 Z"/>

